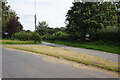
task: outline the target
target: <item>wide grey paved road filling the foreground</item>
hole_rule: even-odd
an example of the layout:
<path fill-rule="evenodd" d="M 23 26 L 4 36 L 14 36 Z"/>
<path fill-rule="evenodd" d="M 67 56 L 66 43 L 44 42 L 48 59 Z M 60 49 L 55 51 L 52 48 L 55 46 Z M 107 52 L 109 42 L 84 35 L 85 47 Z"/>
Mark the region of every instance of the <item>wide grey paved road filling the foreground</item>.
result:
<path fill-rule="evenodd" d="M 115 75 L 70 64 L 51 62 L 48 56 L 2 49 L 3 78 L 116 78 Z"/>

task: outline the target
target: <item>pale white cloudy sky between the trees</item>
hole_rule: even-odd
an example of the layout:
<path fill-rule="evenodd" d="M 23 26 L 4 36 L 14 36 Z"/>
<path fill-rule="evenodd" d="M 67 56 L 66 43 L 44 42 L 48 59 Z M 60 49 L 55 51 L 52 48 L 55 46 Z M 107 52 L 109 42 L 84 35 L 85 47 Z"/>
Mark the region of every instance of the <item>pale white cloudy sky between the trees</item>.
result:
<path fill-rule="evenodd" d="M 25 30 L 34 31 L 35 0 L 7 0 L 11 9 L 20 17 Z M 66 14 L 73 0 L 36 0 L 38 21 L 46 21 L 49 27 L 65 27 Z"/>

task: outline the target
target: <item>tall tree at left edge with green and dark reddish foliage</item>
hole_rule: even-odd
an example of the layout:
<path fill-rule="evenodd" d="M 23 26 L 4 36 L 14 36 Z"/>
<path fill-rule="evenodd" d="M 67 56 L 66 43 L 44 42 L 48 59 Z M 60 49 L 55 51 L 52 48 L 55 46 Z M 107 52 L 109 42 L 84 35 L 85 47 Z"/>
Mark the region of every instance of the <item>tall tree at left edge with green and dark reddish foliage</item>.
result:
<path fill-rule="evenodd" d="M 16 12 L 10 9 L 7 2 L 2 2 L 2 35 L 5 37 L 5 33 L 8 32 L 8 36 L 11 37 L 14 33 L 22 30 L 23 26 L 19 22 L 19 17 Z"/>

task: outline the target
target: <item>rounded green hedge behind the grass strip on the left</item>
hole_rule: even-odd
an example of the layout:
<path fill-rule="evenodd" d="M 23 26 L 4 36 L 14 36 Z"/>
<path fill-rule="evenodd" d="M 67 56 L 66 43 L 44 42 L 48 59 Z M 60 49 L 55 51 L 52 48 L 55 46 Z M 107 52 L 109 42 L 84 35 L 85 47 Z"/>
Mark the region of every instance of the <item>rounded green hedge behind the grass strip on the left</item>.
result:
<path fill-rule="evenodd" d="M 13 35 L 13 39 L 19 39 L 21 41 L 33 40 L 36 42 L 41 42 L 41 36 L 36 32 L 25 32 L 21 31 Z"/>

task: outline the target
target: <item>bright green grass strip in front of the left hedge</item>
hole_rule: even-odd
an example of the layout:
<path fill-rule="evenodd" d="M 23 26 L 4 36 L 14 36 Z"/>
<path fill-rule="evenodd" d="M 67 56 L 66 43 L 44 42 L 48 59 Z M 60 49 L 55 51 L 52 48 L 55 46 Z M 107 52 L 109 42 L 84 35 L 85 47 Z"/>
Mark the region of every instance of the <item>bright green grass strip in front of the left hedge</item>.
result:
<path fill-rule="evenodd" d="M 41 44 L 41 43 L 39 42 L 34 43 L 34 41 L 0 40 L 0 44 Z"/>

